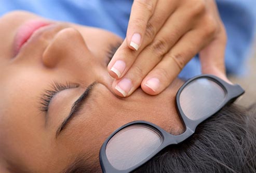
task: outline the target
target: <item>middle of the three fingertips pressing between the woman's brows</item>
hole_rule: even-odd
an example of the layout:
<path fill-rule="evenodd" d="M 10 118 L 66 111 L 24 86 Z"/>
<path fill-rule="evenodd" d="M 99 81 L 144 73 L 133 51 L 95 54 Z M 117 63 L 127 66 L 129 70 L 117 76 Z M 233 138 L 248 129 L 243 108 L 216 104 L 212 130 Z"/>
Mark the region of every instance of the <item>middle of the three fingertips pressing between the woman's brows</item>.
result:
<path fill-rule="evenodd" d="M 183 22 L 180 22 L 180 20 Z M 184 13 L 173 13 L 163 26 L 163 29 L 156 35 L 153 42 L 141 52 L 124 75 L 124 81 L 128 82 L 127 80 L 129 80 L 129 84 L 127 84 L 129 87 L 126 87 L 123 82 L 120 83 L 122 86 L 116 87 L 119 81 L 122 80 L 117 80 L 113 83 L 113 90 L 116 90 L 117 95 L 122 93 L 123 96 L 127 97 L 141 85 L 147 73 L 158 64 L 164 54 L 190 29 L 189 20 L 190 18 L 187 18 Z"/>

